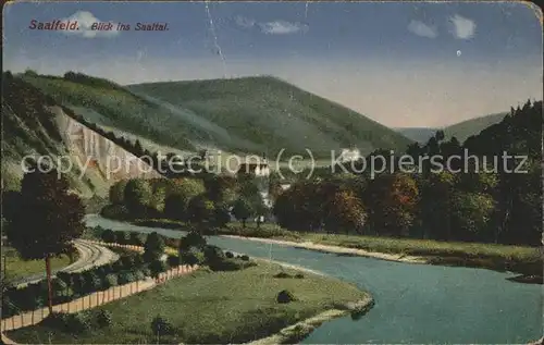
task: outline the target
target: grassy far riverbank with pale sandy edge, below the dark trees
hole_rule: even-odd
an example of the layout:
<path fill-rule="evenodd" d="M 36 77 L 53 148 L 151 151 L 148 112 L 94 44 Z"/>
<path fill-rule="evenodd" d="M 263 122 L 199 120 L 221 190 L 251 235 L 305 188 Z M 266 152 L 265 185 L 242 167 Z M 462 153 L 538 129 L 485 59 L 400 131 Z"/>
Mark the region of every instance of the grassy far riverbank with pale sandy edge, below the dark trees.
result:
<path fill-rule="evenodd" d="M 172 220 L 135 220 L 133 224 L 186 231 L 188 225 Z M 242 227 L 231 223 L 213 234 L 262 243 L 293 246 L 301 249 L 355 255 L 382 260 L 483 268 L 515 272 L 516 281 L 542 284 L 542 251 L 540 247 L 508 246 L 485 243 L 442 242 L 433 239 L 393 238 L 366 235 L 344 235 L 292 232 L 273 224 Z"/>

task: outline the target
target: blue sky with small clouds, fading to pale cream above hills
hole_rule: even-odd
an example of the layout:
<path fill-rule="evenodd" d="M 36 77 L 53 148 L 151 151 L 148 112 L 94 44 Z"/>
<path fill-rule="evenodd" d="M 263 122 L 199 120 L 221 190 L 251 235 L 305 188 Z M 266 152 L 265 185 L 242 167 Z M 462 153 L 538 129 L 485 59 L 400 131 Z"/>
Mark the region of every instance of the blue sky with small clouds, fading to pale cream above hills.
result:
<path fill-rule="evenodd" d="M 529 2 L 17 2 L 3 14 L 4 71 L 121 84 L 274 75 L 391 127 L 543 95 L 542 14 Z M 131 30 L 90 30 L 98 22 Z M 134 30 L 154 22 L 169 30 Z"/>

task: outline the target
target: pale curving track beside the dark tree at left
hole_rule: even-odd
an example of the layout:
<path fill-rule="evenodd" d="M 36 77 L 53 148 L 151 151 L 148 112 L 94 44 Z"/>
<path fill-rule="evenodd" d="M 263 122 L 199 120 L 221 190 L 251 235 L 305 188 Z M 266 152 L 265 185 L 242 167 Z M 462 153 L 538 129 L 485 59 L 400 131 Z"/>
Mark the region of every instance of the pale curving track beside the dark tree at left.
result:
<path fill-rule="evenodd" d="M 53 270 L 51 272 L 53 276 L 58 272 L 66 272 L 66 273 L 81 272 L 88 270 L 95 266 L 102 266 L 119 259 L 119 255 L 111 251 L 110 249 L 97 244 L 89 243 L 85 239 L 74 241 L 74 246 L 79 251 L 79 258 L 77 259 L 77 261 L 60 270 Z M 10 281 L 10 283 L 17 286 L 22 286 L 39 282 L 45 278 L 46 273 L 37 273 L 14 281 Z"/>

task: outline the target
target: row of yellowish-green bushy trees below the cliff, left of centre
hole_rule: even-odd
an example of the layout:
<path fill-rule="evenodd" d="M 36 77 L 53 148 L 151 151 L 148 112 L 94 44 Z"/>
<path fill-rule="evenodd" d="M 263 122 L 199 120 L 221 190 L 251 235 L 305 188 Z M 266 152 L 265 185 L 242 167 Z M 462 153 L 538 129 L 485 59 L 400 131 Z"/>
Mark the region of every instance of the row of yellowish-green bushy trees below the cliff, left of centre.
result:
<path fill-rule="evenodd" d="M 245 223 L 269 211 L 256 181 L 226 175 L 123 180 L 111 186 L 109 199 L 106 217 L 166 218 L 211 226 L 224 226 L 231 212 Z"/>

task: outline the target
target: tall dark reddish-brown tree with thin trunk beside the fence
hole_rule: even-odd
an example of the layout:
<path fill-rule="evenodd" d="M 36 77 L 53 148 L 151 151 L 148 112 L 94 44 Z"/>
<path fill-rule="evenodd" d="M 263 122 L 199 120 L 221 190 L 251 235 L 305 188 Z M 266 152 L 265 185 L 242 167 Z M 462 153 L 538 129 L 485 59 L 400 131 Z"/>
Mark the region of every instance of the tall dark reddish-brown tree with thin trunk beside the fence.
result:
<path fill-rule="evenodd" d="M 59 177 L 54 169 L 48 173 L 41 171 L 46 170 L 36 169 L 24 175 L 18 211 L 10 214 L 7 236 L 22 258 L 46 261 L 52 312 L 50 259 L 65 252 L 72 241 L 83 234 L 85 208 L 77 195 L 69 193 L 65 176 Z"/>

